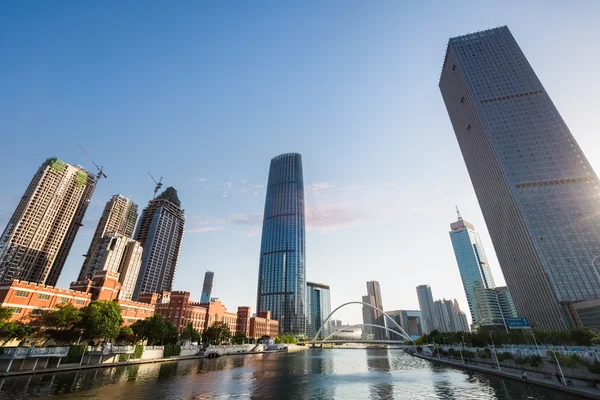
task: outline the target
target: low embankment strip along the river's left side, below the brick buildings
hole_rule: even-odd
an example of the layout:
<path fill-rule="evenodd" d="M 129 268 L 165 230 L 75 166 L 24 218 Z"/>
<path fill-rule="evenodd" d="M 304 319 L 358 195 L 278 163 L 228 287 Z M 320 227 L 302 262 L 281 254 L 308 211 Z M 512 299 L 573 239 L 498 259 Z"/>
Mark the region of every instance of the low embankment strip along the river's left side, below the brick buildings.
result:
<path fill-rule="evenodd" d="M 300 347 L 300 346 L 298 346 Z M 283 353 L 286 350 L 267 350 L 267 351 L 252 351 L 245 353 L 231 353 L 231 354 L 223 354 L 220 357 L 224 356 L 245 356 L 250 354 L 271 354 L 271 353 Z M 292 350 L 297 351 L 297 349 Z M 177 361 L 185 361 L 185 360 L 195 360 L 199 358 L 206 358 L 204 354 L 202 355 L 194 355 L 194 356 L 185 356 L 185 357 L 165 357 L 165 358 L 154 358 L 147 360 L 131 360 L 131 361 L 120 361 L 116 363 L 103 363 L 103 364 L 90 364 L 90 365 L 79 365 L 79 364 L 63 364 L 58 368 L 40 368 L 36 370 L 25 370 L 25 371 L 10 371 L 10 372 L 0 372 L 0 378 L 12 377 L 12 376 L 23 376 L 23 375 L 39 375 L 39 374 L 53 374 L 56 372 L 72 372 L 79 370 L 87 370 L 87 369 L 97 369 L 97 368 L 113 368 L 113 367 L 125 367 L 128 365 L 138 365 L 138 364 L 158 364 L 158 363 L 168 363 L 168 362 L 177 362 Z"/>

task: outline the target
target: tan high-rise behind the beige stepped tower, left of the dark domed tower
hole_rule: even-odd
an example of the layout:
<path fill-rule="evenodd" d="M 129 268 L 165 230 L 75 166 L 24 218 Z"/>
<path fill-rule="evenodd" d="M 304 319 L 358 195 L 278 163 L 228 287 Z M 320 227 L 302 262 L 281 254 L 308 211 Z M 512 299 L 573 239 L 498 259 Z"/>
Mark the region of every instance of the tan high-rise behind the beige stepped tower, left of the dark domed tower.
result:
<path fill-rule="evenodd" d="M 97 270 L 94 270 L 92 265 L 94 259 L 98 256 L 98 249 L 104 236 L 107 233 L 118 233 L 131 239 L 137 217 L 137 204 L 125 196 L 115 194 L 106 203 L 90 243 L 90 248 L 85 255 L 78 280 L 90 279 L 96 273 Z"/>

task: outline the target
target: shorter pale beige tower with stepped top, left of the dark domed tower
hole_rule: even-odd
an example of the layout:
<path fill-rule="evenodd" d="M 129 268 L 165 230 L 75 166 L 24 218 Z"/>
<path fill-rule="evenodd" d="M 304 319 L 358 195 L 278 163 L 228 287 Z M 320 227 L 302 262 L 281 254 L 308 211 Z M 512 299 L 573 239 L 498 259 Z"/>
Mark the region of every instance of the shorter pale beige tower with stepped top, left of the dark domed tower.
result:
<path fill-rule="evenodd" d="M 121 290 L 118 298 L 131 300 L 140 265 L 142 263 L 142 246 L 136 240 L 118 233 L 104 235 L 96 248 L 94 257 L 90 257 L 90 271 L 95 275 L 98 271 L 111 271 L 119 274 Z M 78 281 L 92 279 L 85 275 Z"/>

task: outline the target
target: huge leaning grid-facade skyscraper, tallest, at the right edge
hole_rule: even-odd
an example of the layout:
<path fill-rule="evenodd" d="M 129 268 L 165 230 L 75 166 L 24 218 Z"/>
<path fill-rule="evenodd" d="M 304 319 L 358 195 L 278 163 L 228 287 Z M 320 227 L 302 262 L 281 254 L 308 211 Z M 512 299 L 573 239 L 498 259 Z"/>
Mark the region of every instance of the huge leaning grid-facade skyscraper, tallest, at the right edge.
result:
<path fill-rule="evenodd" d="M 520 316 L 600 297 L 600 185 L 507 27 L 449 40 L 440 90 Z"/>

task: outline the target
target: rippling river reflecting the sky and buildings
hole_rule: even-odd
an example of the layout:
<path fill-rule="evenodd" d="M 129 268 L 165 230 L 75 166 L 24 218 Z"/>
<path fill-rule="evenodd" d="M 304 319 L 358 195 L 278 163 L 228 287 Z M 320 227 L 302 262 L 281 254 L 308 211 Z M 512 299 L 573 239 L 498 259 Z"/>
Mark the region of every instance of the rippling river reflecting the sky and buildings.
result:
<path fill-rule="evenodd" d="M 309 349 L 0 378 L 0 399 L 582 400 L 397 349 Z"/>

